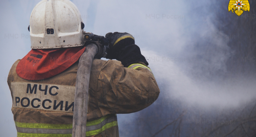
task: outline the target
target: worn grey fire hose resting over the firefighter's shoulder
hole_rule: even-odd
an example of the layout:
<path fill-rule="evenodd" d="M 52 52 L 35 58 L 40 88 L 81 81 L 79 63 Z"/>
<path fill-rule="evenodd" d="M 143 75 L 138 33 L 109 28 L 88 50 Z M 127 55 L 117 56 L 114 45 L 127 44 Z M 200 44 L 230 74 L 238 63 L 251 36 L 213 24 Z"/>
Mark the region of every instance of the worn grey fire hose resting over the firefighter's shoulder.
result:
<path fill-rule="evenodd" d="M 85 35 L 84 39 L 91 39 L 87 36 L 88 35 Z M 91 65 L 95 56 L 106 56 L 107 47 L 108 46 L 97 46 L 94 43 L 88 44 L 85 48 L 84 53 L 80 57 L 76 75 L 72 137 L 86 136 L 86 121 L 88 110 L 87 106 L 89 103 L 88 90 L 91 74 Z"/>

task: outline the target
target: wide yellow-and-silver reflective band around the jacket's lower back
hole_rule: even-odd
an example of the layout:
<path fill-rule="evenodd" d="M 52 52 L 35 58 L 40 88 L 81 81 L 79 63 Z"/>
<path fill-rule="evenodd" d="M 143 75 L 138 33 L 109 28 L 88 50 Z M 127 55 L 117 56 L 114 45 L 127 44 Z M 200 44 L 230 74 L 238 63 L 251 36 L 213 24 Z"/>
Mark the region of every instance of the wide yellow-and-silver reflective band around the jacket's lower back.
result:
<path fill-rule="evenodd" d="M 72 136 L 72 124 L 44 124 L 15 122 L 17 136 Z M 106 115 L 100 119 L 87 121 L 86 136 L 97 135 L 106 128 L 117 126 L 116 114 Z"/>

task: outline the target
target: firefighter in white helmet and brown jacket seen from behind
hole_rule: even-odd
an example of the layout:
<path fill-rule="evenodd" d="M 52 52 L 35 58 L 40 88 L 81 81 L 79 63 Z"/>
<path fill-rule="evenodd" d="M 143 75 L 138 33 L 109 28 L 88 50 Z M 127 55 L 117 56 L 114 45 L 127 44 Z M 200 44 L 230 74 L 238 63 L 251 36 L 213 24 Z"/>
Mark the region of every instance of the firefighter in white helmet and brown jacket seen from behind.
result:
<path fill-rule="evenodd" d="M 17 136 L 72 136 L 76 73 L 84 23 L 69 0 L 43 0 L 30 16 L 32 50 L 9 72 Z M 89 83 L 86 136 L 119 136 L 116 114 L 152 104 L 159 88 L 129 33 L 95 35 L 109 44 L 108 61 L 94 59 Z M 116 59 L 116 60 L 112 60 Z"/>

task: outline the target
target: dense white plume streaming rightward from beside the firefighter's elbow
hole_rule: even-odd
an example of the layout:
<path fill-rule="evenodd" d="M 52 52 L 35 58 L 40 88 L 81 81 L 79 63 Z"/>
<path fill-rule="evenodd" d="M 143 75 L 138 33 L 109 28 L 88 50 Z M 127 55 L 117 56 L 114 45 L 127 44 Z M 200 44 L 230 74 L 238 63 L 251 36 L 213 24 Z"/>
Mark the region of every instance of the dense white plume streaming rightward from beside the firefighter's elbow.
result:
<path fill-rule="evenodd" d="M 157 82 L 165 83 L 161 91 L 165 98 L 178 99 L 188 106 L 238 107 L 256 97 L 256 85 L 250 79 L 226 79 L 225 81 L 206 81 L 186 75 L 175 61 L 176 58 L 161 56 L 154 51 L 144 51 Z M 217 64 L 218 66 L 218 64 Z"/>

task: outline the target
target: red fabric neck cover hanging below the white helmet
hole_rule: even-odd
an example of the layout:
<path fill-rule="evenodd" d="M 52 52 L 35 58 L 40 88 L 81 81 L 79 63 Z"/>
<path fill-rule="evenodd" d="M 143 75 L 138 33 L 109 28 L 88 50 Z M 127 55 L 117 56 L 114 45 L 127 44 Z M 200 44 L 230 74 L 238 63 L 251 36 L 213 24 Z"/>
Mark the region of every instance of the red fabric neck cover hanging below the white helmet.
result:
<path fill-rule="evenodd" d="M 18 76 L 27 80 L 41 80 L 63 72 L 84 53 L 85 47 L 32 49 L 17 65 Z"/>

